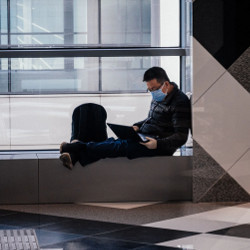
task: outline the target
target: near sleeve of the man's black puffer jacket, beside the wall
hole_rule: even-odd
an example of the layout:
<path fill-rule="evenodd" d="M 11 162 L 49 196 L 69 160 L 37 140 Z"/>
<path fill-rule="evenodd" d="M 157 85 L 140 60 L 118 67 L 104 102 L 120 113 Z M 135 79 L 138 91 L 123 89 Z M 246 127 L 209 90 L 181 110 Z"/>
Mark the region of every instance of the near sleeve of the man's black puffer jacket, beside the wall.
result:
<path fill-rule="evenodd" d="M 189 128 L 191 127 L 190 101 L 180 101 L 173 109 L 171 118 L 174 133 L 171 136 L 157 140 L 157 148 L 160 151 L 175 151 L 186 143 Z"/>

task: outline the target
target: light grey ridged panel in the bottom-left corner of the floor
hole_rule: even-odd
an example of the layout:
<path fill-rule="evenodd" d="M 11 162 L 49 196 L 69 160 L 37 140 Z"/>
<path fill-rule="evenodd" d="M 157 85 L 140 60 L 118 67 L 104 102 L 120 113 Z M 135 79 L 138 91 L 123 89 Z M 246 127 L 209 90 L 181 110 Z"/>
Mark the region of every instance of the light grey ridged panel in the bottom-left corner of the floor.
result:
<path fill-rule="evenodd" d="M 0 250 L 38 250 L 35 230 L 0 230 Z"/>

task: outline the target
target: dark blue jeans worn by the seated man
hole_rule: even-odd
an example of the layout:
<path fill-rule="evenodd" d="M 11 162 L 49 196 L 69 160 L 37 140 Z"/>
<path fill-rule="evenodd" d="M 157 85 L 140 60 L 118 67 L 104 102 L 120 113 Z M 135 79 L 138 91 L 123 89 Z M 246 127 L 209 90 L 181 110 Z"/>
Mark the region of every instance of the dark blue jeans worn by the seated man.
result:
<path fill-rule="evenodd" d="M 148 149 L 138 142 L 109 138 L 103 142 L 88 142 L 86 148 L 79 155 L 82 166 L 104 158 L 126 156 L 129 159 L 145 156 L 172 155 L 173 152 L 160 152 L 157 149 Z"/>

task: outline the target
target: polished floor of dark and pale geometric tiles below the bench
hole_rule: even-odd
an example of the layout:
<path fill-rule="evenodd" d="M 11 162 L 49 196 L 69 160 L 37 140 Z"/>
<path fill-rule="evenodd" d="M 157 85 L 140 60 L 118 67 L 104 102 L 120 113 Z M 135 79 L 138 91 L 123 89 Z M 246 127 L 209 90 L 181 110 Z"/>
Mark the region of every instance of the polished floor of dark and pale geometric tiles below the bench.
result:
<path fill-rule="evenodd" d="M 21 228 L 42 249 L 249 250 L 250 203 L 0 206 L 0 230 Z"/>

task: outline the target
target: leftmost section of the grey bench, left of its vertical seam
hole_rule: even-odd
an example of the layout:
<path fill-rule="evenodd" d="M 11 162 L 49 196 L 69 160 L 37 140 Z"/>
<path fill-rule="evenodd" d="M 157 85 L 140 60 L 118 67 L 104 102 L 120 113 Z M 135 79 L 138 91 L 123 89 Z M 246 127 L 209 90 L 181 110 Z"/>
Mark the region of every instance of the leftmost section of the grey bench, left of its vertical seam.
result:
<path fill-rule="evenodd" d="M 0 204 L 39 202 L 38 165 L 34 153 L 0 154 Z"/>

